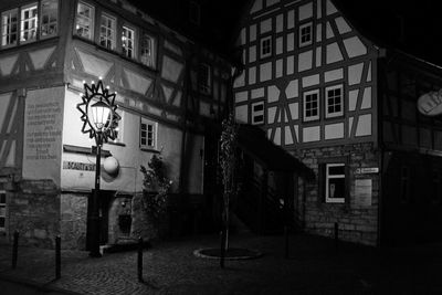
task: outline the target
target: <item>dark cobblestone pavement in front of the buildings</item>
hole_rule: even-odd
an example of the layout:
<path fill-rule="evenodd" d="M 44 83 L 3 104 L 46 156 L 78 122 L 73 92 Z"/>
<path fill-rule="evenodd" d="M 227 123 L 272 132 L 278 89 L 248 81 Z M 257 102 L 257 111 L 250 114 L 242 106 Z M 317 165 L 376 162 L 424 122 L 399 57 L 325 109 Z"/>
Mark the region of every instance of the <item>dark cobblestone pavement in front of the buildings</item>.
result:
<path fill-rule="evenodd" d="M 284 238 L 232 235 L 234 247 L 264 253 L 254 260 L 196 257 L 193 251 L 219 246 L 219 236 L 188 236 L 154 244 L 144 252 L 144 283 L 137 278 L 136 251 L 92 259 L 62 251 L 62 278 L 54 281 L 54 251 L 20 247 L 11 270 L 11 246 L 0 245 L 0 278 L 34 283 L 71 294 L 442 294 L 442 247 L 388 250 L 304 234 Z M 1 293 L 1 292 L 0 292 Z"/>

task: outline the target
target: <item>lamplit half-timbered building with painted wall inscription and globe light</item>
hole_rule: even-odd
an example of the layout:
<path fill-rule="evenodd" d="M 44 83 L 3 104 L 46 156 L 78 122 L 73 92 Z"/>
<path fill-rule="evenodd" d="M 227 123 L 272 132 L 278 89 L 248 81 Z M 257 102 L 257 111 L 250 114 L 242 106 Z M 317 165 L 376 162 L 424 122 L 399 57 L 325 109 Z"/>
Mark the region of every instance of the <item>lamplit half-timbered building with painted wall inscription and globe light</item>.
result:
<path fill-rule="evenodd" d="M 190 2 L 176 12 L 189 12 L 183 19 L 197 30 L 200 8 Z M 82 134 L 76 106 L 84 82 L 98 80 L 117 93 L 122 117 L 102 152 L 117 170 L 102 169 L 101 242 L 130 234 L 118 220 L 136 210 L 140 165 L 154 154 L 168 166 L 170 202 L 181 210 L 173 231 L 194 222 L 187 209 L 210 211 L 202 197 L 217 157 L 206 154 L 217 150 L 213 126 L 229 94 L 225 59 L 124 0 L 1 1 L 0 15 L 1 239 L 17 230 L 52 246 L 60 234 L 64 247 L 85 247 L 95 141 Z"/>

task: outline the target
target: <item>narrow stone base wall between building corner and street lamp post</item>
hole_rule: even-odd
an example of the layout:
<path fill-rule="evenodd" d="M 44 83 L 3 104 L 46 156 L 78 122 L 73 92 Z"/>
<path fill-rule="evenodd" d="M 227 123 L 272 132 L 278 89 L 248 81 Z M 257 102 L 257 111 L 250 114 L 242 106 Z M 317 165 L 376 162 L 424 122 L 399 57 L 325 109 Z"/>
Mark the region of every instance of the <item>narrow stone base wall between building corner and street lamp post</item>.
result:
<path fill-rule="evenodd" d="M 87 196 L 63 193 L 61 196 L 61 238 L 63 249 L 86 247 Z"/>

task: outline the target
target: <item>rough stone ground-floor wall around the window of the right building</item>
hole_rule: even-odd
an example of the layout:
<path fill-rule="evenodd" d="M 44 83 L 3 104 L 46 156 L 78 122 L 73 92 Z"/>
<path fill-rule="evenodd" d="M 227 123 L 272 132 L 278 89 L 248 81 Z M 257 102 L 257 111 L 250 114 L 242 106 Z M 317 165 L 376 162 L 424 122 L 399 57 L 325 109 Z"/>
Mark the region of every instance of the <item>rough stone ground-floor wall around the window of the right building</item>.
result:
<path fill-rule="evenodd" d="M 378 230 L 378 196 L 379 173 L 356 175 L 355 170 L 362 167 L 380 167 L 380 152 L 372 144 L 354 144 L 346 146 L 311 148 L 294 152 L 294 156 L 315 171 L 315 180 L 299 183 L 299 193 L 295 210 L 295 219 L 302 220 L 306 232 L 334 236 L 335 222 L 339 224 L 339 239 L 368 245 L 377 244 Z M 349 159 L 349 200 L 345 204 L 325 203 L 324 197 L 318 196 L 318 159 L 348 157 Z M 355 196 L 356 179 L 371 179 L 371 206 L 358 206 Z M 299 217 L 299 214 L 302 217 Z"/>

